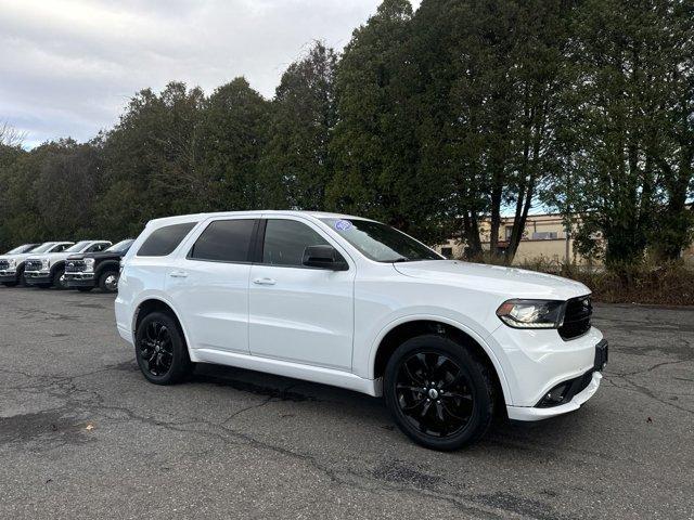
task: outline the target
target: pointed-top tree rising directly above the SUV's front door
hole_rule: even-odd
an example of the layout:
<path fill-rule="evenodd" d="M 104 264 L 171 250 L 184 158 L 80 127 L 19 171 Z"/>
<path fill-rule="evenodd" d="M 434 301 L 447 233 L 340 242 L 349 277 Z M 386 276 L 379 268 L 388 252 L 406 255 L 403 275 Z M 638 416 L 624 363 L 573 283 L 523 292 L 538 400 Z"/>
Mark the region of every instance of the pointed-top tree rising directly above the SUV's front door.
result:
<path fill-rule="evenodd" d="M 324 208 L 334 171 L 330 141 L 336 120 L 336 62 L 332 49 L 316 42 L 282 75 L 262 160 L 269 207 Z"/>

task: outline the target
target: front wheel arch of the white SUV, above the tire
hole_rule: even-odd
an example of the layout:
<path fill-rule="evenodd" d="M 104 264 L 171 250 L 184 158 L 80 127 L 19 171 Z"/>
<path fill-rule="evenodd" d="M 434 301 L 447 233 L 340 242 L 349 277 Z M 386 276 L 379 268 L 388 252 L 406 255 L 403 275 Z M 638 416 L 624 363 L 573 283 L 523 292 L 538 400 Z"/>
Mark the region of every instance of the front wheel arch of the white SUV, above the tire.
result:
<path fill-rule="evenodd" d="M 454 341 L 470 347 L 477 356 L 485 362 L 490 374 L 494 378 L 494 384 L 500 390 L 499 395 L 503 396 L 504 403 L 511 403 L 509 382 L 504 376 L 503 367 L 491 348 L 479 335 L 468 329 L 461 323 L 439 316 L 411 316 L 398 320 L 389 324 L 378 335 L 377 347 L 371 356 L 371 376 L 374 379 L 383 377 L 386 364 L 395 350 L 409 338 L 423 334 L 436 334 L 452 338 Z"/>

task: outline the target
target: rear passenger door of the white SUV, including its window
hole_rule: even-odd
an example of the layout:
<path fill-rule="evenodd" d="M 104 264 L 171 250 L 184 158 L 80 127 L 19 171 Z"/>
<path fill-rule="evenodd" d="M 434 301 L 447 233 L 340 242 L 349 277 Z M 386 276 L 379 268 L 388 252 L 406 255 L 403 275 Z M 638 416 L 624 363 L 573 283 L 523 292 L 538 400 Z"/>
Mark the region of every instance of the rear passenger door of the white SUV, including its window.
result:
<path fill-rule="evenodd" d="M 203 224 L 167 276 L 191 348 L 248 353 L 248 276 L 257 219 L 230 217 Z"/>

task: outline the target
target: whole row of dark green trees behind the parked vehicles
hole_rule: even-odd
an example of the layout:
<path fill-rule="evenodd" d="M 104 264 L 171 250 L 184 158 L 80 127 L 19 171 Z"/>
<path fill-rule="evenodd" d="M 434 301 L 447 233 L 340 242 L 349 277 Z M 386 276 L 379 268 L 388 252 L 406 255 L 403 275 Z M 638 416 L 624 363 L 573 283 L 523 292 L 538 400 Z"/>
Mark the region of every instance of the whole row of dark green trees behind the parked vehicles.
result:
<path fill-rule="evenodd" d="M 583 214 L 609 264 L 692 238 L 694 4 L 385 0 L 340 55 L 316 43 L 272 100 L 142 90 L 89 143 L 0 154 L 0 245 L 137 235 L 152 218 L 257 208 L 376 218 L 479 253 L 491 219 Z M 605 239 L 601 251 L 597 236 Z"/>

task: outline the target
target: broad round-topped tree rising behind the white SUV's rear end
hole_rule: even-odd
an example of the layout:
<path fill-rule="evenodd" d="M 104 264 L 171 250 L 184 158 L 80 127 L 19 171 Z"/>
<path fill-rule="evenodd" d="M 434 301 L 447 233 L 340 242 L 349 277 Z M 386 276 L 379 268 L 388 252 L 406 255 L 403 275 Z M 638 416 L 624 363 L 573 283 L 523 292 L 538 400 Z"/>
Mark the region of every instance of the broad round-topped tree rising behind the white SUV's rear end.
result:
<path fill-rule="evenodd" d="M 204 94 L 171 82 L 160 94 L 140 91 L 103 141 L 110 186 L 100 204 L 100 229 L 137 235 L 153 218 L 200 206 L 195 138 Z"/>

